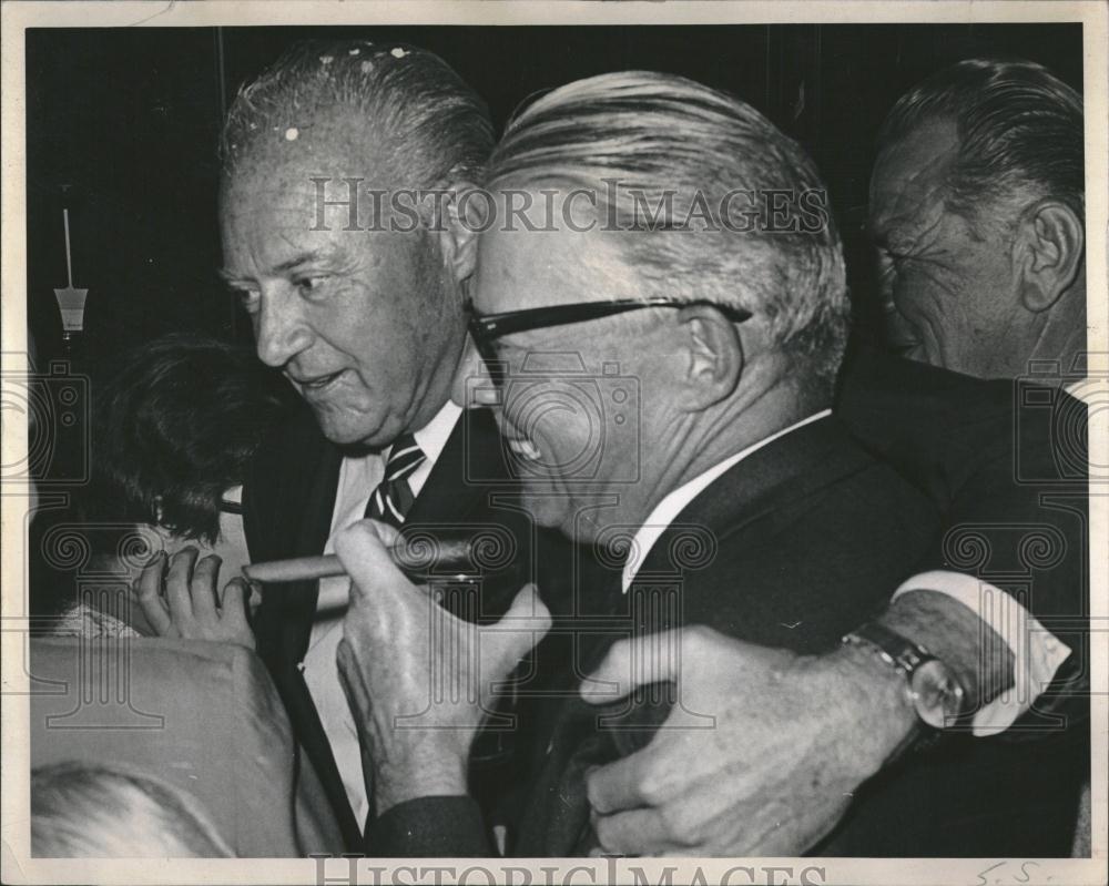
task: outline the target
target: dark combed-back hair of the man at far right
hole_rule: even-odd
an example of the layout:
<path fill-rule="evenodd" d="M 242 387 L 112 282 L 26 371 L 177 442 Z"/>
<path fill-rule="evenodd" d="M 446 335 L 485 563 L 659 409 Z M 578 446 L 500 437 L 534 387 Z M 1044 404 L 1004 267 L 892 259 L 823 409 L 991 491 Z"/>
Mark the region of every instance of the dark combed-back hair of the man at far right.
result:
<path fill-rule="evenodd" d="M 884 149 L 933 120 L 958 128 L 946 204 L 968 218 L 998 200 L 1054 196 L 1085 217 L 1082 98 L 1029 61 L 967 59 L 903 95 L 878 133 Z"/>

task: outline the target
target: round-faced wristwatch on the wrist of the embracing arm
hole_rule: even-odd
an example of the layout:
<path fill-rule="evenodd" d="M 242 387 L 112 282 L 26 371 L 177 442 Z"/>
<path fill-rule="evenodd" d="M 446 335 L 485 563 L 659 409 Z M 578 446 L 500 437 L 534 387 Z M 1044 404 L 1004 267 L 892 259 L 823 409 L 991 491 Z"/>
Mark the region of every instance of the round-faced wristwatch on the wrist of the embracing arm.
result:
<path fill-rule="evenodd" d="M 869 649 L 905 675 L 906 697 L 925 725 L 942 730 L 966 713 L 966 693 L 958 678 L 924 646 L 877 622 L 855 629 L 843 642 Z"/>

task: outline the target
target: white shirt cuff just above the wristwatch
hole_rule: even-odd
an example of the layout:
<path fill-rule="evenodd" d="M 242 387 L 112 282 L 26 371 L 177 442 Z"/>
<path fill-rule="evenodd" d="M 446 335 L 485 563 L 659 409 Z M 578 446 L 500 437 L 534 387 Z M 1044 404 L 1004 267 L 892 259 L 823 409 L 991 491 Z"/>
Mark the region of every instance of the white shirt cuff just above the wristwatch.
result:
<path fill-rule="evenodd" d="M 1070 655 L 1070 646 L 1040 624 L 1011 595 L 962 572 L 922 572 L 904 582 L 893 599 L 912 591 L 936 591 L 957 600 L 988 624 L 1013 652 L 1014 683 L 975 714 L 974 734 L 1005 732 L 1032 706 Z"/>

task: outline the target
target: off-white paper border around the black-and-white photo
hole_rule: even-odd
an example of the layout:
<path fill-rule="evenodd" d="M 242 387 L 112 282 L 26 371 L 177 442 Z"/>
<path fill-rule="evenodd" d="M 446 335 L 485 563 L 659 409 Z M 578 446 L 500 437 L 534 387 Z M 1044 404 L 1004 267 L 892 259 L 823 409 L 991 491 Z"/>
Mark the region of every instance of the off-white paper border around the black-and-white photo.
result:
<path fill-rule="evenodd" d="M 26 70 L 23 33 L 27 28 L 53 27 L 217 27 L 303 24 L 767 24 L 767 23 L 1017 23 L 1081 22 L 1083 26 L 1083 101 L 1086 109 L 1086 194 L 1088 323 L 1091 373 L 1109 374 L 1109 323 L 1107 323 L 1106 237 L 1107 175 L 1107 7 L 1096 0 L 1082 2 L 532 2 L 520 0 L 484 2 L 6 2 L 2 7 L 2 350 L 3 368 L 27 368 L 27 230 L 26 230 Z M 214 220 L 213 220 L 214 223 Z M 26 457 L 27 426 L 18 414 L 4 413 L 2 455 L 4 465 Z M 1109 465 L 1109 410 L 1091 410 L 1089 419 L 1090 464 Z M 2 490 L 2 751 L 3 794 L 0 854 L 6 883 L 315 883 L 321 869 L 327 883 L 458 882 L 475 859 L 420 864 L 411 859 L 235 859 L 167 860 L 135 859 L 32 859 L 29 857 L 29 750 L 27 723 L 26 551 L 23 550 L 28 496 L 18 489 Z M 47 493 L 50 495 L 49 492 Z M 1109 539 L 1109 507 L 1105 492 L 1090 496 L 1090 538 Z M 1105 883 L 1107 858 L 1107 734 L 1109 712 L 1109 591 L 1106 551 L 1091 544 L 1091 723 L 1092 747 L 1092 859 L 874 859 L 874 858 L 753 858 L 753 859 L 568 859 L 557 867 L 551 859 L 496 859 L 486 865 L 500 872 L 497 882 L 532 883 L 633 882 L 633 868 L 650 883 L 672 870 L 671 882 L 689 883 L 700 872 L 703 882 L 719 882 L 728 872 L 736 884 L 782 882 L 781 870 L 798 877 L 805 868 L 823 869 L 826 884 L 888 886 L 892 883 L 935 884 L 1093 884 Z M 1093 625 L 1097 625 L 1093 627 Z M 1100 628 L 1100 630 L 1098 630 Z M 355 878 L 350 878 L 354 863 Z M 1011 864 L 1011 867 L 1004 867 Z M 990 867 L 993 865 L 993 867 Z M 322 868 L 321 868 L 322 866 Z M 753 874 L 747 875 L 746 868 Z M 777 868 L 779 873 L 774 873 Z M 454 870 L 454 878 L 444 870 Z M 378 874 L 375 877 L 374 872 Z M 388 870 L 393 873 L 389 874 Z M 383 873 L 385 872 L 385 873 Z M 423 872 L 423 875 L 421 875 Z M 436 872 L 439 872 L 438 874 Z M 512 873 L 516 872 L 516 873 Z M 543 872 L 547 872 L 546 874 Z M 737 872 L 742 872 L 737 873 Z M 399 875 L 399 876 L 398 876 Z M 569 876 L 564 876 L 569 875 Z M 997 879 L 1003 877 L 1003 879 Z M 437 880 L 436 877 L 441 879 Z M 486 883 L 471 874 L 464 882 Z M 792 879 L 790 882 L 798 882 Z"/>

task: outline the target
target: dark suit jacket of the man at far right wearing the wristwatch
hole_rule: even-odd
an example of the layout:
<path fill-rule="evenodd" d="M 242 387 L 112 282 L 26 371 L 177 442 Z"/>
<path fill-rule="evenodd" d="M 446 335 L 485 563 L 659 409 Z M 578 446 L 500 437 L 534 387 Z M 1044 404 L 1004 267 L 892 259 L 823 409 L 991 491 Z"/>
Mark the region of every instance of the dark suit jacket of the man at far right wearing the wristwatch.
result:
<path fill-rule="evenodd" d="M 1086 405 L 1035 377 L 987 381 L 864 348 L 841 375 L 836 411 L 943 513 L 939 543 L 910 572 L 947 569 L 1007 591 L 1072 654 L 1006 732 L 945 740 L 945 753 L 874 780 L 854 829 L 825 852 L 905 855 L 901 835 L 923 829 L 937 855 L 1067 855 L 1090 777 Z M 908 782 L 937 798 L 930 819 L 897 802 Z M 882 839 L 861 843 L 867 832 Z"/>

